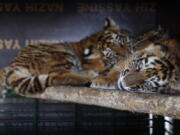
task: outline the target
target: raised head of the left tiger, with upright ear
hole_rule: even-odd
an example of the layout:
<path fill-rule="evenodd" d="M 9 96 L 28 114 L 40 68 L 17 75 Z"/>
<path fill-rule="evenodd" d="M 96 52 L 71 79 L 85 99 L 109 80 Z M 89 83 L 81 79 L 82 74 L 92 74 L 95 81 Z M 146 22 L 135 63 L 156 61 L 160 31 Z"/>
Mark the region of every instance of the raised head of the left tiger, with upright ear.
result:
<path fill-rule="evenodd" d="M 83 39 L 82 69 L 103 72 L 127 54 L 129 32 L 107 18 L 102 30 Z"/>

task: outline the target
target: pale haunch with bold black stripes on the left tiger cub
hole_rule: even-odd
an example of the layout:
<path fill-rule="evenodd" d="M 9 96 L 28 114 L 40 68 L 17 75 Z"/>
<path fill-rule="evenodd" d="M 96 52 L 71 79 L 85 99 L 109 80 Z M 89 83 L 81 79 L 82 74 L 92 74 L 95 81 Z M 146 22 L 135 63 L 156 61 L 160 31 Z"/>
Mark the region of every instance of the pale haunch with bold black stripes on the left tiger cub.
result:
<path fill-rule="evenodd" d="M 41 93 L 48 87 L 48 75 L 32 75 L 24 70 L 12 69 L 5 75 L 5 84 L 19 94 Z"/>

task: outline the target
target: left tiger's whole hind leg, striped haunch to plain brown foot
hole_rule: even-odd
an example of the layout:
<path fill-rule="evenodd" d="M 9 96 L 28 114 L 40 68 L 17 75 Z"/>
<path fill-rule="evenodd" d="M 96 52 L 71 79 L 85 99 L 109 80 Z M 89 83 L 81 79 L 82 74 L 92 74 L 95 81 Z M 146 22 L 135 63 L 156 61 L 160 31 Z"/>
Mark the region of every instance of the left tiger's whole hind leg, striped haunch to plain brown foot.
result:
<path fill-rule="evenodd" d="M 55 72 L 32 75 L 23 70 L 9 70 L 6 73 L 6 85 L 19 94 L 42 93 L 47 87 L 57 85 L 85 86 L 90 84 L 92 76 L 72 72 Z"/>

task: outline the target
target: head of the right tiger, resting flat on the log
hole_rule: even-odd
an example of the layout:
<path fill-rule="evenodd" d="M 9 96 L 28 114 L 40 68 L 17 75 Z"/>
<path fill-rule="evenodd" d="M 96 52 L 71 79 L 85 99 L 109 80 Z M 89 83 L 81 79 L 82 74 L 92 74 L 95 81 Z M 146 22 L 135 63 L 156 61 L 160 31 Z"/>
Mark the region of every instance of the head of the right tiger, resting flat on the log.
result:
<path fill-rule="evenodd" d="M 124 63 L 118 88 L 147 93 L 180 91 L 179 58 L 166 46 L 152 43 Z"/>

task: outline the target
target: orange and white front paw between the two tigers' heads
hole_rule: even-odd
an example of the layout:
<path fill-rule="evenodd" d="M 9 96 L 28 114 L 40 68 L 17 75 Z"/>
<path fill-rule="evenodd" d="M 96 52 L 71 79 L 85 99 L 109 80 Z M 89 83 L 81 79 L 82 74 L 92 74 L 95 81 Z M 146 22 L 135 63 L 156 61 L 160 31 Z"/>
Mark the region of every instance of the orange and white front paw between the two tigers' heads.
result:
<path fill-rule="evenodd" d="M 91 88 L 116 89 L 116 82 L 108 77 L 97 77 L 92 80 Z"/>

